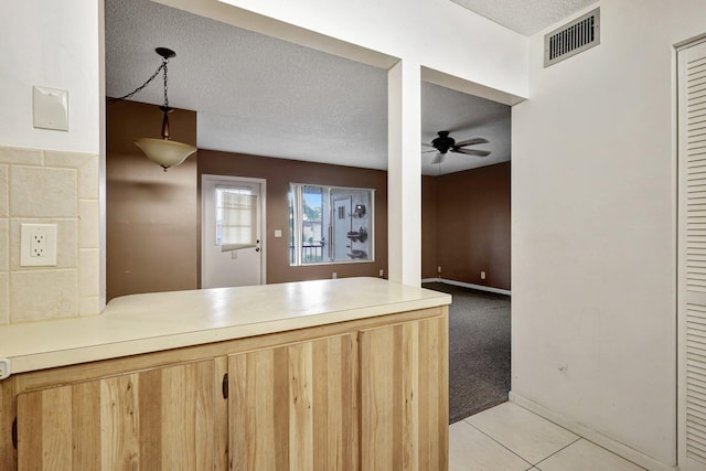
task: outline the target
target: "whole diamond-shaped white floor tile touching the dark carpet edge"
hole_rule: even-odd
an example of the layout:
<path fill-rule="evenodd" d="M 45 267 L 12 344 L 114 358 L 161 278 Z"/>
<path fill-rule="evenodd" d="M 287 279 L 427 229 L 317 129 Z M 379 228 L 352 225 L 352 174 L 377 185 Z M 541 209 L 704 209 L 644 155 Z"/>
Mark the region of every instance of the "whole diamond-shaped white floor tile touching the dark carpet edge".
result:
<path fill-rule="evenodd" d="M 579 438 L 512 403 L 501 404 L 466 420 L 533 464 Z"/>

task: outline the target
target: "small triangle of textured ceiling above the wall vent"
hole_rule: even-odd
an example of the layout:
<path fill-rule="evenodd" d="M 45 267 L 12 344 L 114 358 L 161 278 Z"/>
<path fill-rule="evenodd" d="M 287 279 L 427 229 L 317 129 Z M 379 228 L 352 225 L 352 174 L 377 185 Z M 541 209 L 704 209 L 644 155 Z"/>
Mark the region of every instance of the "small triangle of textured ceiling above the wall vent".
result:
<path fill-rule="evenodd" d="M 597 0 L 451 0 L 525 36 L 593 4 Z"/>

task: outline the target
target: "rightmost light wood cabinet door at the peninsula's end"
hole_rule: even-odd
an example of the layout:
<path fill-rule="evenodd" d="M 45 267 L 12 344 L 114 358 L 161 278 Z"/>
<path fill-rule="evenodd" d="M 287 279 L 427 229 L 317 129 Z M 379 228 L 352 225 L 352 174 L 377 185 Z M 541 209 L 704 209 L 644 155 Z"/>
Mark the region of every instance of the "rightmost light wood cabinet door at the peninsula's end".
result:
<path fill-rule="evenodd" d="M 361 469 L 448 468 L 448 323 L 361 332 Z"/>

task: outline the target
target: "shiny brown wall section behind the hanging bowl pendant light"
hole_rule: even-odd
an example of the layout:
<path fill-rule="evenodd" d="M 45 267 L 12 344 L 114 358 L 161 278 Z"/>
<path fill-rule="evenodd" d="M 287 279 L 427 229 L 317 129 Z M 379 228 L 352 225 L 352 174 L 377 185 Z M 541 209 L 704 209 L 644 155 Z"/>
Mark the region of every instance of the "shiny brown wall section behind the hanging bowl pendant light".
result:
<path fill-rule="evenodd" d="M 135 101 L 107 105 L 107 298 L 196 288 L 196 156 L 164 172 L 132 143 L 159 138 L 162 113 Z M 172 139 L 196 144 L 196 114 L 170 115 Z"/>

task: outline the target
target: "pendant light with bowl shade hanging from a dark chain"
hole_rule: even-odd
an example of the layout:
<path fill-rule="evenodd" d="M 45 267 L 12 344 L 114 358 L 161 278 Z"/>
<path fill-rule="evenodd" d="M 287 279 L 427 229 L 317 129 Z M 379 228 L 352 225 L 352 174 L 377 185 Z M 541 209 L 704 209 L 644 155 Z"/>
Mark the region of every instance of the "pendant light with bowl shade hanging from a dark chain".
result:
<path fill-rule="evenodd" d="M 164 104 L 159 107 L 159 109 L 162 110 L 163 114 L 161 131 L 162 138 L 139 138 L 135 140 L 135 144 L 140 148 L 140 150 L 145 153 L 145 156 L 147 156 L 148 159 L 167 171 L 167 169 L 176 167 L 184 160 L 186 160 L 189 156 L 196 151 L 196 148 L 186 143 L 171 140 L 171 133 L 169 129 L 169 114 L 172 113 L 173 108 L 169 106 L 169 97 L 167 96 L 167 64 L 169 64 L 170 58 L 176 56 L 176 53 L 167 47 L 157 47 L 154 51 L 160 56 L 162 56 L 162 64 L 157 68 L 154 74 L 152 74 L 152 76 L 148 78 L 145 84 L 140 85 L 135 90 L 120 98 L 111 99 L 110 101 L 120 101 L 131 97 L 136 93 L 147 87 L 150 82 L 152 82 L 159 75 L 160 71 L 163 72 Z"/>

